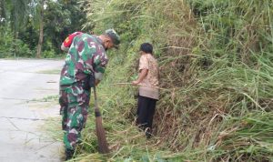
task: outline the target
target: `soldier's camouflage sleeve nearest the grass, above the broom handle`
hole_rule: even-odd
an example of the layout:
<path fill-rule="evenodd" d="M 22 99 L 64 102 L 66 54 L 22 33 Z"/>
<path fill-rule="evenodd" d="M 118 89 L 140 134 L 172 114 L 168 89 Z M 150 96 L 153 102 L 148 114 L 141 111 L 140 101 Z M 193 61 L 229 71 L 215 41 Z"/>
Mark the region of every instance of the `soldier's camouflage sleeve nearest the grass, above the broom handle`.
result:
<path fill-rule="evenodd" d="M 95 78 L 98 80 L 102 80 L 103 74 L 106 71 L 106 66 L 108 63 L 108 59 L 106 54 L 103 53 L 96 53 L 94 55 L 94 71 L 95 71 Z"/>

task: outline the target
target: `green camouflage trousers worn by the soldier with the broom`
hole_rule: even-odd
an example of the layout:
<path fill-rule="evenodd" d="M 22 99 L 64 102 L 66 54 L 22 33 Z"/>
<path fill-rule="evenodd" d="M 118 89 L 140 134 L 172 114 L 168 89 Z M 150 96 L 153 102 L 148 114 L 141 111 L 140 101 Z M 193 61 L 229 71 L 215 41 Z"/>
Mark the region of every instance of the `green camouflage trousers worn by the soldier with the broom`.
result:
<path fill-rule="evenodd" d="M 81 85 L 60 87 L 59 104 L 66 149 L 75 149 L 80 142 L 81 130 L 86 125 L 89 100 L 90 90 L 85 90 Z"/>

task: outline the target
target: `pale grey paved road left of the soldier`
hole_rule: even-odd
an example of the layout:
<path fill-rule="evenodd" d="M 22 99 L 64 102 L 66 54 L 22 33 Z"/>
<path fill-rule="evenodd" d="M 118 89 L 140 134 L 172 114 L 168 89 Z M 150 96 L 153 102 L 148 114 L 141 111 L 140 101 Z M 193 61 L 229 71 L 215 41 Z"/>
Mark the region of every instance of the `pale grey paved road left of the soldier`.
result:
<path fill-rule="evenodd" d="M 57 98 L 63 64 L 0 59 L 1 162 L 61 161 L 62 143 L 45 133 L 40 119 L 60 118 L 56 99 L 48 98 Z M 58 121 L 54 125 L 61 128 Z"/>

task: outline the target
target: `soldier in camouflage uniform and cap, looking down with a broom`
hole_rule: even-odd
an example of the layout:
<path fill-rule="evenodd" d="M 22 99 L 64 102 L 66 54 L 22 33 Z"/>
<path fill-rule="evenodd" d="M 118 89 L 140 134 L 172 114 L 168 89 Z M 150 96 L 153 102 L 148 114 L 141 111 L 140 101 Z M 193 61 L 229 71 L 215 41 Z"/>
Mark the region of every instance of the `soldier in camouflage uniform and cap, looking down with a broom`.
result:
<path fill-rule="evenodd" d="M 59 103 L 66 159 L 73 157 L 76 144 L 80 142 L 81 130 L 86 124 L 90 88 L 99 83 L 106 69 L 106 50 L 119 43 L 114 29 L 99 36 L 83 33 L 73 38 L 60 77 Z"/>

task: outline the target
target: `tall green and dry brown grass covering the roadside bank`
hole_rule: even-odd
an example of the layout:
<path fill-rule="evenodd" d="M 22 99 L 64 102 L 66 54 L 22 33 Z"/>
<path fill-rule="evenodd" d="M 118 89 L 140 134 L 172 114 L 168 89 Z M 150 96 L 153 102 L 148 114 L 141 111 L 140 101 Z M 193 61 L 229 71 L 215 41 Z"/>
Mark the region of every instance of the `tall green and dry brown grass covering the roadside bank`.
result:
<path fill-rule="evenodd" d="M 86 5 L 86 4 L 87 5 Z M 112 149 L 96 150 L 88 118 L 77 160 L 273 161 L 271 0 L 86 1 L 87 27 L 114 27 L 122 46 L 108 54 L 98 87 Z M 161 99 L 154 135 L 135 127 L 138 46 L 155 46 Z M 92 101 L 91 101 L 92 103 Z M 92 112 L 92 110 L 91 110 Z"/>

